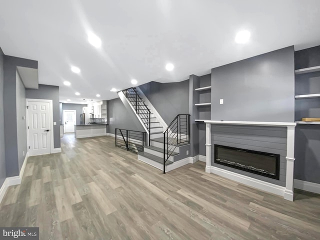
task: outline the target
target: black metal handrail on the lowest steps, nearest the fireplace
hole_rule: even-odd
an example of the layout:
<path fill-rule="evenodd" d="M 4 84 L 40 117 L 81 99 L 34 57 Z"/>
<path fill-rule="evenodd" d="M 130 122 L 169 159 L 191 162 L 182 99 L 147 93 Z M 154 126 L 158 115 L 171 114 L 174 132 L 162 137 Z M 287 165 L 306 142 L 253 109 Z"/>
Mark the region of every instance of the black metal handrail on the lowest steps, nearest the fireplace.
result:
<path fill-rule="evenodd" d="M 163 173 L 165 173 L 165 162 L 181 143 L 190 143 L 189 114 L 177 114 L 163 132 Z"/>

